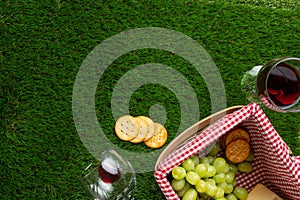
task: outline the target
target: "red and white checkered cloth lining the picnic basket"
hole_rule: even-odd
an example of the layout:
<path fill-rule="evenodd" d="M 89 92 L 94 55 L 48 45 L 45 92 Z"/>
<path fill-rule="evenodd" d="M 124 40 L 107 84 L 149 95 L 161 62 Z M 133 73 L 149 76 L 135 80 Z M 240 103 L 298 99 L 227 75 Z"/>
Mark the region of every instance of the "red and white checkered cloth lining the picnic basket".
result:
<path fill-rule="evenodd" d="M 221 118 L 159 163 L 154 176 L 168 200 L 180 199 L 167 179 L 172 169 L 192 155 L 205 152 L 211 144 L 237 125 L 242 125 L 249 131 L 255 155 L 254 170 L 239 173 L 236 176 L 237 185 L 250 191 L 261 183 L 285 200 L 300 200 L 300 157 L 290 155 L 287 144 L 255 103 Z"/>

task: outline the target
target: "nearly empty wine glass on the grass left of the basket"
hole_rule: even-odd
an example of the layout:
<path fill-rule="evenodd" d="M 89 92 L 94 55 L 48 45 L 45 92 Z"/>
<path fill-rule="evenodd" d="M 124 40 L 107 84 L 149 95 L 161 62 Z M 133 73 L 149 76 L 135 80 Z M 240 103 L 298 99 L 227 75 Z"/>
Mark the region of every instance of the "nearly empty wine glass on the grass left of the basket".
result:
<path fill-rule="evenodd" d="M 82 183 L 95 200 L 134 200 L 134 169 L 115 150 L 104 151 L 100 162 L 89 164 L 84 171 Z"/>

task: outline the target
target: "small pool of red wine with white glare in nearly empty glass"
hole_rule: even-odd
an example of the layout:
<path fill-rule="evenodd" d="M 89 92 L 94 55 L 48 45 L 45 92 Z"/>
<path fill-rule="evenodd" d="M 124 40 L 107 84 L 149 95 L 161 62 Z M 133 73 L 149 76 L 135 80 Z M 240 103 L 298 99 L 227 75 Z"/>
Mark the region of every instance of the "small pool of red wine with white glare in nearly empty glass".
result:
<path fill-rule="evenodd" d="M 108 184 L 118 181 L 121 177 L 119 166 L 110 158 L 102 161 L 98 167 L 98 174 L 101 180 Z"/>

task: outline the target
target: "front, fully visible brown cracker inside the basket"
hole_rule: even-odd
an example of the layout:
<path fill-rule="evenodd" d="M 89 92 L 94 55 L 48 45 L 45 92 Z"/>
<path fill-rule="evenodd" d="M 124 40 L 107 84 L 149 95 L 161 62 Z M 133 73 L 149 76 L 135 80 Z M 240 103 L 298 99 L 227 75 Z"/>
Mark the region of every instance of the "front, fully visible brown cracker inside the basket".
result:
<path fill-rule="evenodd" d="M 230 142 L 225 149 L 227 159 L 233 163 L 243 162 L 249 154 L 250 144 L 243 139 L 237 139 Z"/>

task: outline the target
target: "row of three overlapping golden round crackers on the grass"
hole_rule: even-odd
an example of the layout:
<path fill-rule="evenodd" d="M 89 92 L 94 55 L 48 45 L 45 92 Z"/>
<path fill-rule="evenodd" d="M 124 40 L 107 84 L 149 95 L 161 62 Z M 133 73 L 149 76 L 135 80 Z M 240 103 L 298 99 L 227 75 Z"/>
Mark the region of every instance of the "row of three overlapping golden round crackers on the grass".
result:
<path fill-rule="evenodd" d="M 115 123 L 115 133 L 121 140 L 135 144 L 144 142 L 151 148 L 162 147 L 168 138 L 166 128 L 146 116 L 120 117 Z"/>

